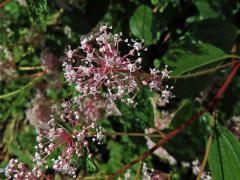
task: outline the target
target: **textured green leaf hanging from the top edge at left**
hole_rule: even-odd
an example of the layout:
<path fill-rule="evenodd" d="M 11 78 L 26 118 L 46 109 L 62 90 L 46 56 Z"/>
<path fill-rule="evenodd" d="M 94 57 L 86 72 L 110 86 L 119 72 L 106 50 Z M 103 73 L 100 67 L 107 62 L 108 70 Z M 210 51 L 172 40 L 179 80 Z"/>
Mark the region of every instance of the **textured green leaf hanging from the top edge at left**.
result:
<path fill-rule="evenodd" d="M 32 23 L 41 31 L 46 31 L 47 0 L 27 0 Z"/>

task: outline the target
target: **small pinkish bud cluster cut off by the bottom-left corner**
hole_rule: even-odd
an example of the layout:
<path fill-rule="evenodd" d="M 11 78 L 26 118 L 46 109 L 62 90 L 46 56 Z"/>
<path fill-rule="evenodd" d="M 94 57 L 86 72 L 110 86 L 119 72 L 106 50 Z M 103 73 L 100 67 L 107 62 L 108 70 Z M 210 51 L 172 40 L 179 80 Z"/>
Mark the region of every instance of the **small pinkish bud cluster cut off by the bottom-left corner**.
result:
<path fill-rule="evenodd" d="M 36 176 L 29 171 L 28 168 L 24 166 L 23 163 L 19 162 L 17 159 L 11 159 L 4 169 L 0 169 L 0 173 L 4 173 L 6 179 L 29 179 L 36 180 Z"/>

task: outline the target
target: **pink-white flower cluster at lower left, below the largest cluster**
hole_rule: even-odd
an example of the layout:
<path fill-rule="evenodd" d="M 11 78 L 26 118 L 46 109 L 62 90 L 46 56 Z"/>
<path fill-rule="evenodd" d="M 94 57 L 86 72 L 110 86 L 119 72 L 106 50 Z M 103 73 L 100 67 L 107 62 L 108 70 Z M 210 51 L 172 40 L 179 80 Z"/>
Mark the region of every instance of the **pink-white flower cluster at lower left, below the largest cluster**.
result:
<path fill-rule="evenodd" d="M 77 167 L 72 163 L 74 158 L 81 158 L 92 154 L 89 150 L 89 141 L 101 143 L 104 135 L 103 128 L 96 128 L 95 123 L 89 125 L 81 118 L 80 111 L 74 111 L 67 102 L 62 105 L 62 112 L 53 115 L 47 128 L 37 129 L 37 146 L 33 158 L 33 174 L 40 177 L 46 167 L 48 157 L 56 149 L 61 150 L 57 158 L 52 159 L 52 168 L 63 174 L 76 177 Z M 90 115 L 91 116 L 91 115 Z"/>

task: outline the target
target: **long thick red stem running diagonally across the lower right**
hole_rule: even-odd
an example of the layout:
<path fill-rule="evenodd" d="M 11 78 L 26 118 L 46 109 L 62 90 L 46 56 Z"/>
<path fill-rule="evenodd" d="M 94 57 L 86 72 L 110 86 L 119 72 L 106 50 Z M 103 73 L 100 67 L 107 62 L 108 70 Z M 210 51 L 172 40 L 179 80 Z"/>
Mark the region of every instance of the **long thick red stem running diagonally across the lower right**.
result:
<path fill-rule="evenodd" d="M 131 161 L 130 163 L 126 164 L 123 166 L 121 169 L 116 171 L 114 174 L 112 174 L 108 179 L 114 179 L 115 176 L 123 173 L 127 169 L 129 169 L 132 165 L 138 163 L 139 161 L 143 161 L 145 158 L 150 156 L 155 150 L 157 150 L 160 146 L 168 142 L 170 139 L 178 135 L 180 132 L 182 132 L 186 127 L 188 127 L 190 124 L 192 124 L 194 121 L 198 120 L 199 117 L 207 112 L 210 108 L 213 107 L 213 105 L 218 101 L 221 96 L 224 94 L 226 91 L 227 87 L 229 86 L 230 82 L 232 81 L 233 77 L 236 75 L 238 69 L 240 67 L 240 63 L 236 64 L 236 66 L 233 68 L 232 72 L 230 75 L 227 77 L 221 88 L 218 90 L 217 94 L 214 96 L 214 98 L 207 104 L 206 108 L 204 108 L 202 111 L 198 112 L 196 115 L 194 115 L 191 119 L 185 121 L 183 124 L 181 124 L 178 128 L 175 130 L 169 132 L 166 134 L 166 136 L 161 139 L 155 146 L 153 146 L 149 151 L 145 152 L 141 156 L 139 156 L 137 159 Z"/>

